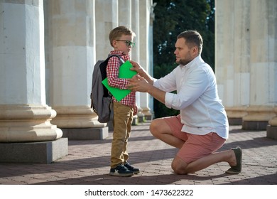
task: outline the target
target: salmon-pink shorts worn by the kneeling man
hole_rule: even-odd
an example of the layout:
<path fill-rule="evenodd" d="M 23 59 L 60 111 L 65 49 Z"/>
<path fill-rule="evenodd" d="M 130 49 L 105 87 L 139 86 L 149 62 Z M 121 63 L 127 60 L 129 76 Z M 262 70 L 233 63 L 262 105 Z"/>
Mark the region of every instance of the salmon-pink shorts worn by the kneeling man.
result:
<path fill-rule="evenodd" d="M 183 144 L 176 156 L 186 163 L 191 163 L 192 161 L 214 153 L 226 141 L 226 139 L 223 139 L 215 132 L 210 132 L 205 135 L 195 135 L 181 131 L 184 124 L 180 121 L 180 114 L 173 117 L 164 117 L 163 119 L 170 127 L 173 136 L 185 141 L 185 144 Z"/>

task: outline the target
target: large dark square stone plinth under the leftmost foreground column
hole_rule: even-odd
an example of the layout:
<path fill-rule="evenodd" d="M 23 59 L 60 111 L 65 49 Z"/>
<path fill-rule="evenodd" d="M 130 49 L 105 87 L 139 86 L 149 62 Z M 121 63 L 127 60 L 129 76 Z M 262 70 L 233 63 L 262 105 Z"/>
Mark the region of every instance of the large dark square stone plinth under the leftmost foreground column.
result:
<path fill-rule="evenodd" d="M 68 154 L 68 141 L 0 143 L 1 163 L 51 163 Z"/>

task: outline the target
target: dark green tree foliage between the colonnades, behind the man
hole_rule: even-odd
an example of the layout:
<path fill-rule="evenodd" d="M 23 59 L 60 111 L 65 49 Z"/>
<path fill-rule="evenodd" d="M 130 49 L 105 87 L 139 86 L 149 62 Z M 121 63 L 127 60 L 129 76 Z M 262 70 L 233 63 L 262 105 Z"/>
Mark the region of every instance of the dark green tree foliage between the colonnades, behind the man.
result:
<path fill-rule="evenodd" d="M 154 77 L 163 77 L 175 64 L 175 41 L 179 33 L 199 31 L 203 38 L 202 58 L 214 69 L 214 0 L 153 0 Z M 178 114 L 154 100 L 155 117 Z"/>

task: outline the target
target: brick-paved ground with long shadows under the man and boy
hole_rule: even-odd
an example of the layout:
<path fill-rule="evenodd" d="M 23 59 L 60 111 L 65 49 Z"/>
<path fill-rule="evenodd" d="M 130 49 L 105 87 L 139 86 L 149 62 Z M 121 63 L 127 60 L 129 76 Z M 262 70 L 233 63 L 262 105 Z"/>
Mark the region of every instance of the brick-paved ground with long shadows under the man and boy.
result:
<path fill-rule="evenodd" d="M 129 140 L 130 162 L 141 169 L 132 177 L 109 176 L 112 133 L 97 141 L 69 141 L 68 155 L 54 163 L 0 163 L 0 184 L 53 185 L 168 185 L 168 184 L 277 184 L 277 141 L 266 138 L 266 131 L 244 131 L 230 127 L 222 149 L 241 146 L 243 171 L 239 175 L 224 173 L 229 166 L 218 163 L 195 174 L 175 175 L 170 163 L 176 149 L 155 139 L 149 123 L 133 127 Z"/>

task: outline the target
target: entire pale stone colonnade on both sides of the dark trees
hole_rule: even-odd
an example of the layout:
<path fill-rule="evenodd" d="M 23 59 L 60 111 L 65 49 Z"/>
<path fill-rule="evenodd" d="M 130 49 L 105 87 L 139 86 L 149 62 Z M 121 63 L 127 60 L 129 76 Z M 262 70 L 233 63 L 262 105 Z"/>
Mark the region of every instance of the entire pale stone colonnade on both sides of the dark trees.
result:
<path fill-rule="evenodd" d="M 230 124 L 275 139 L 276 6 L 216 0 L 215 66 Z M 67 155 L 68 139 L 107 137 L 90 109 L 93 65 L 123 25 L 136 33 L 131 59 L 151 73 L 153 16 L 152 0 L 0 0 L 0 162 L 48 163 Z M 139 119 L 151 119 L 151 96 L 136 99 Z"/>

